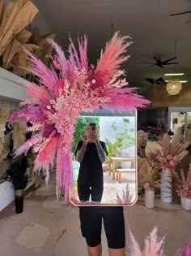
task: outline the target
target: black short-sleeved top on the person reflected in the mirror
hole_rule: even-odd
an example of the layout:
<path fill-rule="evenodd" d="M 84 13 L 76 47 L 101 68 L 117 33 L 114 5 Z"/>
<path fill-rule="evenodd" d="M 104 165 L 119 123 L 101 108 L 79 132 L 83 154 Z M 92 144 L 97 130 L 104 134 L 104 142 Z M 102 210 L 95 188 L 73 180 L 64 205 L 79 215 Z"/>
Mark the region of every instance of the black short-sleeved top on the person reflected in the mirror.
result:
<path fill-rule="evenodd" d="M 81 149 L 82 145 L 83 141 L 79 141 L 74 153 L 75 155 Z M 105 154 L 108 154 L 104 141 L 100 141 L 100 145 Z M 87 143 L 87 149 L 79 167 L 78 182 L 89 186 L 97 183 L 100 184 L 100 182 L 103 183 L 103 168 L 95 143 Z"/>

